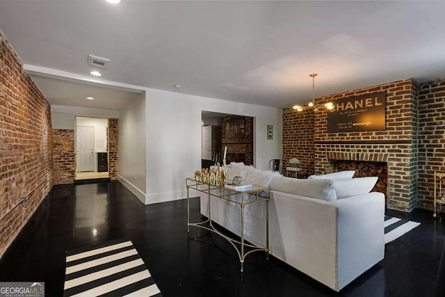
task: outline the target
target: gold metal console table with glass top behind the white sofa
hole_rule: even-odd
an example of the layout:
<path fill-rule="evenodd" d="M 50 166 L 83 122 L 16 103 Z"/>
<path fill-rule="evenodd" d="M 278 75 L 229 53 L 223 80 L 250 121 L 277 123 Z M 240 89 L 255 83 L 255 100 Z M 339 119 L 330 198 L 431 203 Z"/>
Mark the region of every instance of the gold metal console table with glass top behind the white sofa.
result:
<path fill-rule="evenodd" d="M 186 188 L 187 188 L 187 232 L 190 232 L 190 226 L 200 227 L 205 230 L 214 232 L 224 239 L 226 239 L 235 248 L 238 253 L 239 262 L 241 263 L 241 272 L 244 269 L 244 260 L 247 255 L 252 252 L 265 251 L 266 259 L 269 257 L 269 200 L 270 200 L 270 188 L 265 186 L 252 185 L 252 188 L 245 191 L 234 191 L 223 186 L 215 186 L 212 184 L 207 184 L 203 182 L 197 182 L 195 179 L 188 177 L 186 178 Z M 201 193 L 207 194 L 207 214 L 209 217 L 207 220 L 197 223 L 190 222 L 190 189 L 199 191 Z M 241 199 L 234 199 L 236 195 L 241 195 Z M 211 197 L 217 199 L 223 199 L 228 202 L 233 202 L 238 204 L 241 210 L 241 241 L 233 239 L 222 232 L 216 230 L 212 224 L 211 220 Z M 266 246 L 255 246 L 251 243 L 246 243 L 244 239 L 244 211 L 245 206 L 254 203 L 264 203 L 266 202 Z M 208 225 L 208 226 L 207 226 Z M 245 248 L 251 248 L 248 252 Z"/>

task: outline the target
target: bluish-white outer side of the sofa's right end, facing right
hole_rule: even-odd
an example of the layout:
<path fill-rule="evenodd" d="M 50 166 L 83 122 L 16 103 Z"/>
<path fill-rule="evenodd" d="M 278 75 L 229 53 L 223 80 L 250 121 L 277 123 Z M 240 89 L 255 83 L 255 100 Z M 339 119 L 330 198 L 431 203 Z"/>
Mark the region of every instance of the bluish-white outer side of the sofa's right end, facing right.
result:
<path fill-rule="evenodd" d="M 385 195 L 371 192 L 331 201 L 337 206 L 339 289 L 385 257 Z"/>

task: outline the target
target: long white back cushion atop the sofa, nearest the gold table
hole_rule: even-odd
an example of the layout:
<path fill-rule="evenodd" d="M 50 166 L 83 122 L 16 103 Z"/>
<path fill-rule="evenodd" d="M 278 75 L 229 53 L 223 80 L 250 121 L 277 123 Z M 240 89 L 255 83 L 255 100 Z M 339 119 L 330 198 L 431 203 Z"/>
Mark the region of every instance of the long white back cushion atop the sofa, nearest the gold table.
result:
<path fill-rule="evenodd" d="M 330 179 L 295 179 L 280 176 L 272 179 L 270 188 L 326 201 L 337 199 L 334 182 Z"/>

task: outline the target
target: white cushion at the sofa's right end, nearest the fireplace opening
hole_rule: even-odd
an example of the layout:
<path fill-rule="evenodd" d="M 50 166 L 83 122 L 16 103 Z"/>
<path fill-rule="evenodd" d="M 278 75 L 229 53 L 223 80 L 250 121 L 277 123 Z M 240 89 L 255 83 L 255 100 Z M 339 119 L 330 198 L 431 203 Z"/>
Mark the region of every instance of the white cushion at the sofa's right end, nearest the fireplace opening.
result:
<path fill-rule="evenodd" d="M 337 199 L 369 193 L 378 177 L 357 177 L 353 179 L 341 179 L 334 181 L 334 189 Z"/>

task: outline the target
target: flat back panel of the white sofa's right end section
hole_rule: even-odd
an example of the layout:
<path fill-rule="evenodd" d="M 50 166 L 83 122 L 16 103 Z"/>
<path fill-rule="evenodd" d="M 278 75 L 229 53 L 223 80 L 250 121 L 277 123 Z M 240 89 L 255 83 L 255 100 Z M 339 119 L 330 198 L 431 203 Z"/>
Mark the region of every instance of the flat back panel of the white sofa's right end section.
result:
<path fill-rule="evenodd" d="M 336 289 L 337 206 L 273 190 L 270 254 Z"/>

